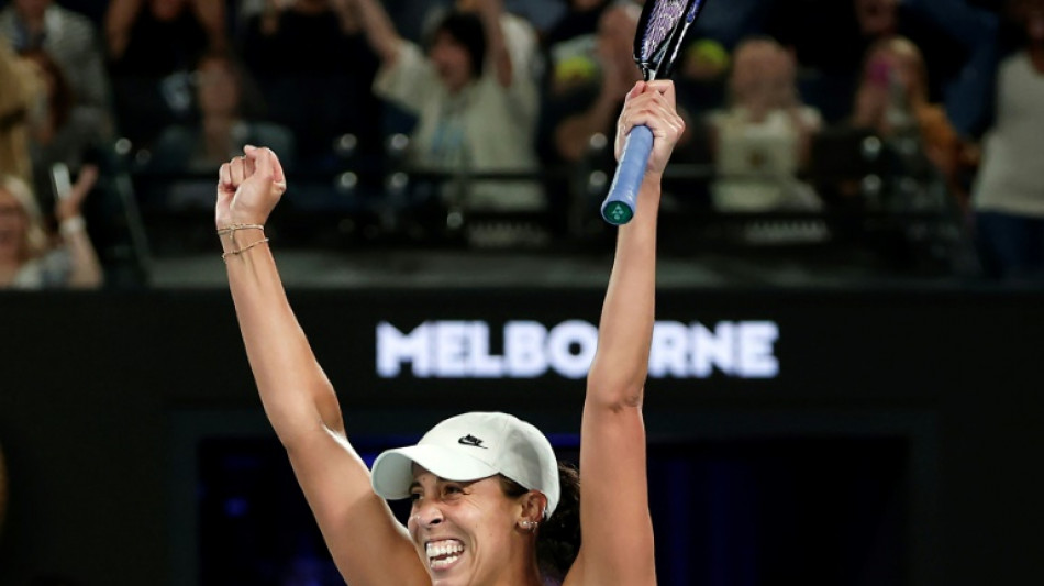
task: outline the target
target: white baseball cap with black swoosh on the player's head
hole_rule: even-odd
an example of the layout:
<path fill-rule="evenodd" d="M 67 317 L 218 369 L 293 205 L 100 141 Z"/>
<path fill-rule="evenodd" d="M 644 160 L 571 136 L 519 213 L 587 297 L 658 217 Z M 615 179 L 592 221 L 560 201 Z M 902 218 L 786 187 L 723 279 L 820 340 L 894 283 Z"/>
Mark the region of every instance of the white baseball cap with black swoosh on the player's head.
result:
<path fill-rule="evenodd" d="M 387 499 L 407 498 L 413 464 L 455 482 L 502 474 L 547 498 L 545 518 L 558 506 L 558 460 L 534 425 L 507 413 L 471 412 L 444 420 L 417 445 L 388 450 L 371 472 L 374 491 Z"/>

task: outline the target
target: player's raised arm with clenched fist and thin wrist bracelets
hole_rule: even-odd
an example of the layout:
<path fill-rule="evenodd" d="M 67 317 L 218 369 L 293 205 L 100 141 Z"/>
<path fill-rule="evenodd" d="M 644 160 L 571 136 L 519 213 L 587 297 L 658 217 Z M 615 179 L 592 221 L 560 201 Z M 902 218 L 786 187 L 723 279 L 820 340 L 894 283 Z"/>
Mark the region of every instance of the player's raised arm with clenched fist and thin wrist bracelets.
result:
<path fill-rule="evenodd" d="M 352 586 L 431 584 L 369 471 L 347 441 L 333 387 L 287 300 L 264 233 L 286 190 L 276 155 L 246 147 L 222 165 L 216 225 L 246 354 L 265 412 L 290 457 L 334 562 Z"/>

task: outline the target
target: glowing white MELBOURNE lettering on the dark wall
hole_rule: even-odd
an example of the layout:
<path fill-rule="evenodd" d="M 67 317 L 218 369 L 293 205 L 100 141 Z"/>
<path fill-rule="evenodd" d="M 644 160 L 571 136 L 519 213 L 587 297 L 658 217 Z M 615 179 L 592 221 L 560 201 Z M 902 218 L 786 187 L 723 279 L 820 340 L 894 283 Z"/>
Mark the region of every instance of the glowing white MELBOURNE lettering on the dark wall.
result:
<path fill-rule="evenodd" d="M 779 374 L 771 321 L 658 321 L 653 330 L 648 374 L 653 378 L 774 378 Z M 534 378 L 548 373 L 587 375 L 598 345 L 598 328 L 570 320 L 547 328 L 509 321 L 493 352 L 486 321 L 426 321 L 409 332 L 377 324 L 377 376 L 397 378 Z"/>

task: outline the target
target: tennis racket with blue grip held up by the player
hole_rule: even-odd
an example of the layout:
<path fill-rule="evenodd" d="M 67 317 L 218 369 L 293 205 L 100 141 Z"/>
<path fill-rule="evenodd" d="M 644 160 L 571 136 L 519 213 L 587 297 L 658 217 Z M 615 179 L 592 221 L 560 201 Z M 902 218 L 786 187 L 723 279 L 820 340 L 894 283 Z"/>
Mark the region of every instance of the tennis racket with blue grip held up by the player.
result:
<path fill-rule="evenodd" d="M 634 35 L 634 63 L 642 69 L 646 81 L 670 76 L 681 40 L 704 3 L 706 0 L 645 1 Z M 638 188 L 652 152 L 653 131 L 647 126 L 631 129 L 609 196 L 602 202 L 602 218 L 610 224 L 625 224 L 634 218 Z"/>

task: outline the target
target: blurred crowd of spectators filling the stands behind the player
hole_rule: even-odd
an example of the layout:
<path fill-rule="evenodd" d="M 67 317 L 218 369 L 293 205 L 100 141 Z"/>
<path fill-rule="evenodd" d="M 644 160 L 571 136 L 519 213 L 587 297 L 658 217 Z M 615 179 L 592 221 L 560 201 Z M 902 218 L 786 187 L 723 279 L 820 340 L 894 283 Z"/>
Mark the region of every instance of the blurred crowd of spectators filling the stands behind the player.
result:
<path fill-rule="evenodd" d="M 631 0 L 0 7 L 0 287 L 141 280 L 113 268 L 141 218 L 209 209 L 245 144 L 300 210 L 543 218 L 508 237 L 543 242 L 597 209 L 642 78 Z M 711 0 L 674 78 L 667 212 L 942 210 L 984 274 L 1044 275 L 1044 0 Z"/>

